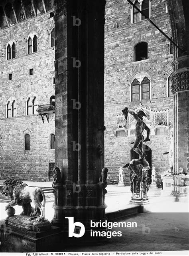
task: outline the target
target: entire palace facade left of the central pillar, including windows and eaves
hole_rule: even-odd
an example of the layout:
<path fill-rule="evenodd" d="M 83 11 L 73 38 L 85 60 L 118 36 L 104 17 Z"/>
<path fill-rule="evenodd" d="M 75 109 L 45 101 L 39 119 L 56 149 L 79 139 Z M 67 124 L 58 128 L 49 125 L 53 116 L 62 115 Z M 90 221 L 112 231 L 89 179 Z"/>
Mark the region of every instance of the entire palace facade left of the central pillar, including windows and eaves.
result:
<path fill-rule="evenodd" d="M 1 5 L 1 4 L 0 4 Z M 0 6 L 0 177 L 49 181 L 55 163 L 55 32 L 50 0 Z"/>

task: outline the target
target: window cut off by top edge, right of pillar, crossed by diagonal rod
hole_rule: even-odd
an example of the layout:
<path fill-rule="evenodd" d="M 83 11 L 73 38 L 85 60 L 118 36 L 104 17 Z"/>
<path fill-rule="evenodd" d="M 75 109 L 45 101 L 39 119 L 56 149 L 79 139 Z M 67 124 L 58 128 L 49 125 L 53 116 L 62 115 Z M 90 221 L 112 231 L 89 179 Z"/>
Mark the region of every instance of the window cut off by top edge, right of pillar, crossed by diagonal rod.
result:
<path fill-rule="evenodd" d="M 138 10 L 136 10 L 136 8 L 132 6 L 132 20 L 131 20 L 132 23 L 145 20 L 146 18 L 150 18 L 150 0 L 143 0 L 141 4 L 140 2 L 136 0 L 134 4 L 136 7 L 138 7 L 140 11 L 144 13 L 144 15 L 141 14 Z"/>

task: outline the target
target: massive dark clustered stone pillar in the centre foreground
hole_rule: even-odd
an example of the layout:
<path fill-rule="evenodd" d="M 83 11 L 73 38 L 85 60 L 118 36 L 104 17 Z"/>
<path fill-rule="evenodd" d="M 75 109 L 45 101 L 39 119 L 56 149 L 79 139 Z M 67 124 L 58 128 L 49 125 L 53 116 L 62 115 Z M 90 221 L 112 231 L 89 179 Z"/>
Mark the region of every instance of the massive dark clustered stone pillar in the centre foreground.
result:
<path fill-rule="evenodd" d="M 63 183 L 54 186 L 54 226 L 68 219 L 105 220 L 104 0 L 55 2 L 55 165 Z"/>

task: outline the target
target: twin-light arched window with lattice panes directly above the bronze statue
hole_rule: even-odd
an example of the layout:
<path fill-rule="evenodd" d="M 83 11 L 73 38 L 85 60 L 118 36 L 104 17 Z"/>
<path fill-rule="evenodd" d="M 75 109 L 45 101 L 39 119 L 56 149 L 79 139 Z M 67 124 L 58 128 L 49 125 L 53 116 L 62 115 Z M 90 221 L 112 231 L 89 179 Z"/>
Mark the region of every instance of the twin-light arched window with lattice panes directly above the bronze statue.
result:
<path fill-rule="evenodd" d="M 151 99 L 151 77 L 146 72 L 139 72 L 130 79 L 130 101 Z"/>

